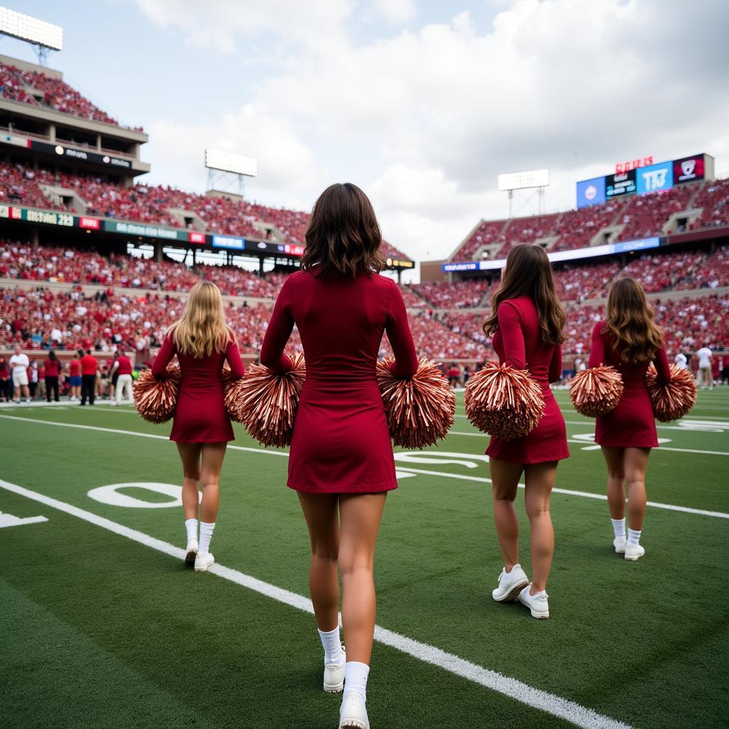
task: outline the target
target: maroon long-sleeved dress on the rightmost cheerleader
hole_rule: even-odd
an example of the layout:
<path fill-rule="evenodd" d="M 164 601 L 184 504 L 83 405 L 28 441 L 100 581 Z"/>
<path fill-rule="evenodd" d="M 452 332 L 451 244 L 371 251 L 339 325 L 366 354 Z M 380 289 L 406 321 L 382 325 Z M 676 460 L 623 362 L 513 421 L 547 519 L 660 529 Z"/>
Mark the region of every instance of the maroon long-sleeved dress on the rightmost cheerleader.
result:
<path fill-rule="evenodd" d="M 606 416 L 596 418 L 595 443 L 612 448 L 657 448 L 658 434 L 655 432 L 655 416 L 645 383 L 645 373 L 650 362 L 624 362 L 612 345 L 612 338 L 605 331 L 604 321 L 595 325 L 590 345 L 588 367 L 606 364 L 623 376 L 623 394 L 615 410 Z M 658 383 L 667 385 L 671 381 L 666 350 L 661 348 L 653 359 Z"/>

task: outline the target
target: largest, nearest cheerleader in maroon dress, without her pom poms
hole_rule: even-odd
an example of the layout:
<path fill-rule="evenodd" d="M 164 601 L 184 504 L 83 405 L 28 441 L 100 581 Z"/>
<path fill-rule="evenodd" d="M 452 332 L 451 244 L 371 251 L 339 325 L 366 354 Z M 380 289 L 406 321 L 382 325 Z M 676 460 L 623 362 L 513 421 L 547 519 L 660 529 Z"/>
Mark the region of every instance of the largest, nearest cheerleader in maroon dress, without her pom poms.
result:
<path fill-rule="evenodd" d="M 324 647 L 324 690 L 344 691 L 340 728 L 370 727 L 364 702 L 375 628 L 375 540 L 386 494 L 397 488 L 375 378 L 383 332 L 396 357 L 394 375 L 408 377 L 418 367 L 399 288 L 378 276 L 380 244 L 375 211 L 359 187 L 324 190 L 306 231 L 303 270 L 281 288 L 261 348 L 262 364 L 288 371 L 284 347 L 298 327 L 306 381 L 288 485 L 297 491 L 311 538 L 309 585 Z"/>

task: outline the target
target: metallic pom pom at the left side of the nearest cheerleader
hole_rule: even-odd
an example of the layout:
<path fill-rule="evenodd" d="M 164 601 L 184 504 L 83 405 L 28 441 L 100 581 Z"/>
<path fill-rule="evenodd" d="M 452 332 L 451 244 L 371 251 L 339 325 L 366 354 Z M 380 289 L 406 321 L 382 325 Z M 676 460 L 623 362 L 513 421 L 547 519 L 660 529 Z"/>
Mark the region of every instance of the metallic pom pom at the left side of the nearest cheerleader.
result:
<path fill-rule="evenodd" d="M 292 356 L 291 364 L 291 370 L 283 375 L 262 364 L 252 364 L 245 377 L 229 381 L 225 388 L 228 415 L 263 445 L 291 445 L 306 376 L 303 354 Z"/>

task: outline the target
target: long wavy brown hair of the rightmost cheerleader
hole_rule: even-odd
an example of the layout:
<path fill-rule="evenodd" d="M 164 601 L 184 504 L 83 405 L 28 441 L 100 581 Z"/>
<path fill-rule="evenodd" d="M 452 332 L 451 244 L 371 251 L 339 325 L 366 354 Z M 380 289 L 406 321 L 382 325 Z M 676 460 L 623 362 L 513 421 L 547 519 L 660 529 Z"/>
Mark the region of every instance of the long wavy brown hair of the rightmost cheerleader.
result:
<path fill-rule="evenodd" d="M 610 287 L 605 329 L 623 362 L 650 362 L 663 346 L 663 330 L 653 321 L 653 308 L 635 278 Z"/>

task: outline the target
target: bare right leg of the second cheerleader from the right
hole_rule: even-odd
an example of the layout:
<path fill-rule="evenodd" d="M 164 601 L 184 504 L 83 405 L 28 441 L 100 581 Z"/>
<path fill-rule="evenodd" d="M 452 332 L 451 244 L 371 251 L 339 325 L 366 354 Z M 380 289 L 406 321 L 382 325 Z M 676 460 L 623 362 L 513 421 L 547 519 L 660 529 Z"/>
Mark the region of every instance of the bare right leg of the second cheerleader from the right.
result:
<path fill-rule="evenodd" d="M 554 529 L 549 499 L 556 475 L 557 461 L 537 463 L 524 469 L 524 503 L 531 527 L 531 595 L 547 588 L 547 577 L 552 566 Z"/>

